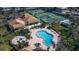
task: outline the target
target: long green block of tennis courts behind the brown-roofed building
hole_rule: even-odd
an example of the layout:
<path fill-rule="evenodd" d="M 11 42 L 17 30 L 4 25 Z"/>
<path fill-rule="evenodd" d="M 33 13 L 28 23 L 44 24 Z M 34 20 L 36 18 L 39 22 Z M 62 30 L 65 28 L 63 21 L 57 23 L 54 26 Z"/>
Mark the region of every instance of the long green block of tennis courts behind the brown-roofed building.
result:
<path fill-rule="evenodd" d="M 44 21 L 45 23 L 52 23 L 54 21 L 60 22 L 62 20 L 65 20 L 66 18 L 63 16 L 59 16 L 49 12 L 45 12 L 43 10 L 31 10 L 29 11 L 33 16 L 37 17 L 38 19 Z"/>

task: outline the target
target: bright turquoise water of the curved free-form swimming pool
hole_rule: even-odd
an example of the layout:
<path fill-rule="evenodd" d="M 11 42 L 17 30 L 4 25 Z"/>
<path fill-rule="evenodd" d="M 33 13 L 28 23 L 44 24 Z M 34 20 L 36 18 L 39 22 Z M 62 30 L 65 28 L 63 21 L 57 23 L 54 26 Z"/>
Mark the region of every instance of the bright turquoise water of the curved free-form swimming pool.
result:
<path fill-rule="evenodd" d="M 36 33 L 37 37 L 42 38 L 44 40 L 44 44 L 46 46 L 52 46 L 53 45 L 53 35 L 47 33 L 46 31 L 38 31 Z"/>

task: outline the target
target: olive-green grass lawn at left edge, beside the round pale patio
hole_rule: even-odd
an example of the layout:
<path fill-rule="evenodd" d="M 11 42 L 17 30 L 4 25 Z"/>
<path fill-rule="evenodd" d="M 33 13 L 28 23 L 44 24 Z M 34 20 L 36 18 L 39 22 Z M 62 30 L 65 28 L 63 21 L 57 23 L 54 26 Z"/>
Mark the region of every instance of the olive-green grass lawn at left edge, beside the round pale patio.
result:
<path fill-rule="evenodd" d="M 12 47 L 9 41 L 15 36 L 14 33 L 9 33 L 6 27 L 0 27 L 0 51 L 10 51 Z"/>

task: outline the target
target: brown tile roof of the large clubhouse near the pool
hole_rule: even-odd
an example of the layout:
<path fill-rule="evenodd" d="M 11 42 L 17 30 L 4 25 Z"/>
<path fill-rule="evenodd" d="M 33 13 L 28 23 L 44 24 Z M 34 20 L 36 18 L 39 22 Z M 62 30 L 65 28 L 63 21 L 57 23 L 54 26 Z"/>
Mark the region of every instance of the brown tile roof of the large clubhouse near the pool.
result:
<path fill-rule="evenodd" d="M 17 19 L 9 21 L 9 25 L 13 26 L 13 28 L 20 28 L 20 27 L 23 27 L 27 24 L 29 25 L 29 24 L 36 23 L 36 22 L 39 22 L 39 20 L 37 18 L 26 13 L 25 17 L 23 19 L 17 18 Z"/>

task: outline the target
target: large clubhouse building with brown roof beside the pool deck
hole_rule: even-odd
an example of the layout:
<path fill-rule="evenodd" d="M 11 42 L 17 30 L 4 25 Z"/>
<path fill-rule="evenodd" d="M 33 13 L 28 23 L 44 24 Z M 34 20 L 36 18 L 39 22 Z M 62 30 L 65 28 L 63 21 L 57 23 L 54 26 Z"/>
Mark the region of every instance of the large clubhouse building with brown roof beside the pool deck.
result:
<path fill-rule="evenodd" d="M 24 28 L 25 26 L 30 26 L 33 24 L 38 24 L 39 22 L 40 20 L 38 20 L 37 18 L 33 17 L 28 13 L 20 15 L 18 18 L 14 20 L 8 21 L 9 27 L 14 30 Z"/>

